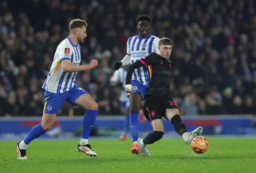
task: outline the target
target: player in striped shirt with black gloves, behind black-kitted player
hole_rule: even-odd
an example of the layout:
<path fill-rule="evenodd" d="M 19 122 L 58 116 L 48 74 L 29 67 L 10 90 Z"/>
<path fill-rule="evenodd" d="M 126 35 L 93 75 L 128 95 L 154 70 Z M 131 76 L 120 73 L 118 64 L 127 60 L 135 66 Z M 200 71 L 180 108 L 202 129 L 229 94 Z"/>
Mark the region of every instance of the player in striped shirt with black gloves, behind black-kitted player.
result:
<path fill-rule="evenodd" d="M 142 15 L 137 18 L 137 30 L 139 35 L 128 39 L 127 55 L 122 59 L 122 61 L 114 64 L 114 69 L 118 70 L 122 66 L 132 64 L 152 52 L 159 53 L 158 41 L 160 39 L 154 35 L 150 35 L 151 25 L 152 22 L 149 16 Z M 132 74 L 131 81 L 131 85 L 134 86 L 134 90 L 132 93 L 128 94 L 130 102 L 130 132 L 134 142 L 131 152 L 135 154 L 140 153 L 140 148 L 137 142 L 139 136 L 138 116 L 140 112 L 140 105 L 142 100 L 144 100 L 148 84 L 148 67 L 135 69 Z"/>

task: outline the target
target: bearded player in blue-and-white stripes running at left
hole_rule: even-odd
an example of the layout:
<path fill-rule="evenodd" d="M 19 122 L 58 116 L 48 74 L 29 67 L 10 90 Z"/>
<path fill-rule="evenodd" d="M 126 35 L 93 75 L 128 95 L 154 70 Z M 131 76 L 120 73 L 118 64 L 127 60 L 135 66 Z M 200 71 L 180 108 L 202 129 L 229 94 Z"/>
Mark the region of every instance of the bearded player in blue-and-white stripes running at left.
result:
<path fill-rule="evenodd" d="M 70 22 L 69 28 L 70 35 L 58 45 L 52 67 L 42 86 L 45 90 L 42 122 L 34 126 L 24 140 L 16 144 L 18 159 L 27 159 L 28 144 L 50 130 L 56 113 L 65 101 L 72 106 L 80 105 L 86 108 L 82 120 L 82 138 L 77 150 L 90 156 L 97 156 L 88 144 L 88 137 L 98 114 L 98 104 L 88 92 L 76 85 L 76 73 L 96 67 L 98 61 L 92 60 L 88 65 L 79 65 L 81 61 L 80 43 L 83 43 L 87 36 L 87 23 L 84 20 L 75 19 Z"/>

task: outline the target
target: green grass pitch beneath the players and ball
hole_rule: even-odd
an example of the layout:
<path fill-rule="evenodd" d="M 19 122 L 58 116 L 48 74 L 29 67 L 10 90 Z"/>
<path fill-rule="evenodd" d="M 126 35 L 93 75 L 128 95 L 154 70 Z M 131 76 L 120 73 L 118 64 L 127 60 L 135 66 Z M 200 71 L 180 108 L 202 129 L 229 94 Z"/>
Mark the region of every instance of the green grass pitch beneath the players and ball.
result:
<path fill-rule="evenodd" d="M 150 157 L 130 153 L 131 140 L 90 140 L 97 157 L 76 151 L 79 140 L 35 140 L 28 160 L 18 160 L 16 141 L 0 141 L 0 173 L 256 173 L 256 138 L 207 138 L 196 154 L 182 138 L 148 145 Z"/>

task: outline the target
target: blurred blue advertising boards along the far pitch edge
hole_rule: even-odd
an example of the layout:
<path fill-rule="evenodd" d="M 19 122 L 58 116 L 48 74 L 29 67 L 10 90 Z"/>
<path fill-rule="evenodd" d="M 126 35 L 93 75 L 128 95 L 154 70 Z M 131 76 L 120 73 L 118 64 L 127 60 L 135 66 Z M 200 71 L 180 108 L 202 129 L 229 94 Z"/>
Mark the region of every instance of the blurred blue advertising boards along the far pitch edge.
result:
<path fill-rule="evenodd" d="M 252 127 L 252 116 L 182 116 L 188 131 L 198 126 L 204 128 L 204 135 L 246 135 Z M 41 117 L 1 118 L 0 140 L 17 140 L 24 138 L 30 129 L 41 121 Z M 164 137 L 178 137 L 172 124 L 164 122 Z M 124 129 L 123 116 L 98 116 L 90 136 L 118 137 Z M 150 122 L 140 123 L 140 136 L 152 131 Z M 76 138 L 82 133 L 81 117 L 60 117 L 56 119 L 51 130 L 40 138 Z M 255 133 L 256 134 L 256 133 Z"/>

